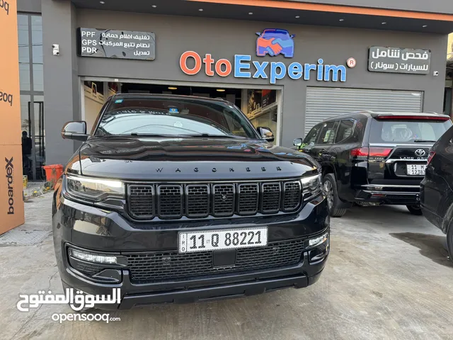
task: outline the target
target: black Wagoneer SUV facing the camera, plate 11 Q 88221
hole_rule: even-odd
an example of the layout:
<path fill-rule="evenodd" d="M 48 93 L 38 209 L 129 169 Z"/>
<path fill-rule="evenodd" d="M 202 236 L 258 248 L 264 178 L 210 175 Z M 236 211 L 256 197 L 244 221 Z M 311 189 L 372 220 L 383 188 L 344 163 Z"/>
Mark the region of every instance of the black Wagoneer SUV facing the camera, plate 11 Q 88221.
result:
<path fill-rule="evenodd" d="M 64 138 L 83 140 L 53 202 L 64 288 L 120 288 L 135 305 L 303 288 L 329 252 L 321 167 L 271 144 L 221 99 L 117 94 Z"/>

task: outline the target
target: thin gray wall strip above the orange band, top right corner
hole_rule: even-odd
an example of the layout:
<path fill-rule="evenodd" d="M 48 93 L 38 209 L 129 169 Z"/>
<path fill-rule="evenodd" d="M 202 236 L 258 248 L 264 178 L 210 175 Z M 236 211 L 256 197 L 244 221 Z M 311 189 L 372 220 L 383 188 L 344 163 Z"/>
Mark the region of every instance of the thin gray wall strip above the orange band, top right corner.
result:
<path fill-rule="evenodd" d="M 288 1 L 288 0 L 281 0 Z M 358 6 L 369 8 L 397 9 L 402 11 L 418 11 L 431 13 L 453 13 L 452 0 L 289 0 L 294 2 L 311 2 L 314 4 L 329 4 L 339 6 Z"/>

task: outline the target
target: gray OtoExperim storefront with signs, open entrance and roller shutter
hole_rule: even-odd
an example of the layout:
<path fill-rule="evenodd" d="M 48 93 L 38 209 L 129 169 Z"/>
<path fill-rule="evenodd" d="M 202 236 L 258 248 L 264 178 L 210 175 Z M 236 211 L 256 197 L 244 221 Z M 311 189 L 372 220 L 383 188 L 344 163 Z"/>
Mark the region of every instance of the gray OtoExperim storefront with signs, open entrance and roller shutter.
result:
<path fill-rule="evenodd" d="M 447 7 L 411 18 L 390 4 L 378 16 L 297 1 L 170 2 L 41 1 L 47 164 L 77 147 L 61 139 L 62 125 L 92 125 L 116 91 L 222 97 L 284 146 L 350 111 L 442 112 Z"/>

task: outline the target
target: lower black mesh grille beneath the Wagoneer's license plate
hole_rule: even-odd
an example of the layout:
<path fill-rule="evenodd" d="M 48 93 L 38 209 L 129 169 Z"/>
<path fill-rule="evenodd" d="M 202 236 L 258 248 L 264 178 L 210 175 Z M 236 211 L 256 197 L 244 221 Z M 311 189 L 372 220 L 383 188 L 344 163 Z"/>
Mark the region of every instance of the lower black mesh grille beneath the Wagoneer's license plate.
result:
<path fill-rule="evenodd" d="M 294 266 L 301 261 L 303 239 L 272 242 L 268 246 L 237 249 L 234 266 L 214 268 L 212 251 L 179 254 L 178 251 L 125 254 L 132 283 L 196 278 L 222 273 Z"/>

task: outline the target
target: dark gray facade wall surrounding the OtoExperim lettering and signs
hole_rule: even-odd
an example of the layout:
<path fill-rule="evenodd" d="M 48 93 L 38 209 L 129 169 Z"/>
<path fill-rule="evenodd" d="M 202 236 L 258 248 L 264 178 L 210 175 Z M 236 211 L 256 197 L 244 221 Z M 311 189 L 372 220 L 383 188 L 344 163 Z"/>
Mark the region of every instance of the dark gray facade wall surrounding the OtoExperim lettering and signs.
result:
<path fill-rule="evenodd" d="M 277 81 L 283 86 L 282 145 L 292 145 L 292 139 L 304 131 L 306 86 L 335 86 L 350 88 L 403 89 L 424 91 L 425 111 L 442 111 L 445 79 L 447 35 L 398 33 L 382 30 L 355 30 L 319 26 L 296 26 L 248 21 L 230 21 L 210 18 L 153 16 L 141 13 L 93 11 L 76 9 L 67 3 L 42 0 L 45 36 L 45 112 L 47 162 L 66 162 L 74 145 L 59 137 L 63 123 L 79 118 L 79 90 L 74 81 L 76 74 L 86 77 L 119 79 L 153 79 L 159 81 L 200 81 L 205 83 L 248 84 L 260 88 L 269 85 L 267 79 L 235 79 L 184 74 L 179 67 L 180 55 L 194 50 L 200 55 L 211 53 L 215 60 L 226 58 L 233 62 L 235 54 L 255 55 L 255 32 L 264 28 L 284 28 L 295 34 L 295 55 L 292 61 L 325 64 L 345 64 L 355 57 L 357 67 L 348 69 L 345 83 L 292 80 Z M 48 12 L 46 14 L 46 11 Z M 55 19 L 57 18 L 57 19 Z M 156 33 L 156 60 L 108 60 L 75 57 L 74 32 L 76 27 L 143 30 Z M 52 56 L 52 43 L 60 44 L 61 55 Z M 431 71 L 439 77 L 414 74 L 380 74 L 367 71 L 367 50 L 370 45 L 391 47 L 428 48 L 432 50 Z M 266 57 L 269 61 L 291 61 L 284 57 Z M 76 61 L 76 63 L 75 63 Z M 253 70 L 253 66 L 252 66 Z M 313 77 L 312 77 L 313 78 Z M 71 91 L 72 89 L 72 91 Z M 69 118 L 69 119 L 68 119 Z"/>

